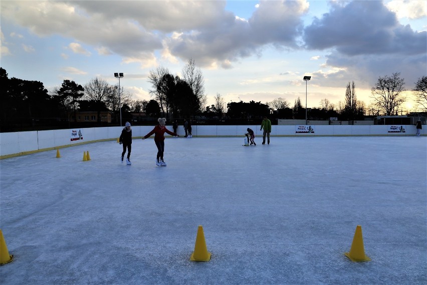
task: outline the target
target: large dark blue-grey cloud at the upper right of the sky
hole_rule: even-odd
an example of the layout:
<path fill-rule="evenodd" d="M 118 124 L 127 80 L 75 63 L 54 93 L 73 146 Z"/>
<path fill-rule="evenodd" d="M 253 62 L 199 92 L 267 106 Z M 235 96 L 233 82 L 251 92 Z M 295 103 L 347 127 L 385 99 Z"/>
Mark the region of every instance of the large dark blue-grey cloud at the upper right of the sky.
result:
<path fill-rule="evenodd" d="M 379 1 L 333 5 L 330 13 L 304 30 L 308 49 L 335 48 L 348 55 L 425 53 L 426 32 L 415 33 L 397 22 L 396 15 Z"/>

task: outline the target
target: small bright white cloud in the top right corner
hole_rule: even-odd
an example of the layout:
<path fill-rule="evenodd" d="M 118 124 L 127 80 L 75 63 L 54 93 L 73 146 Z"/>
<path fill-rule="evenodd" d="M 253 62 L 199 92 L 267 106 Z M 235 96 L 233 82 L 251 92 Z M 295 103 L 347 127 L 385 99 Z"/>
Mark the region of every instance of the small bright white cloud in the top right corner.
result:
<path fill-rule="evenodd" d="M 420 19 L 427 16 L 427 5 L 424 0 L 393 0 L 386 4 L 396 13 L 397 18 Z"/>

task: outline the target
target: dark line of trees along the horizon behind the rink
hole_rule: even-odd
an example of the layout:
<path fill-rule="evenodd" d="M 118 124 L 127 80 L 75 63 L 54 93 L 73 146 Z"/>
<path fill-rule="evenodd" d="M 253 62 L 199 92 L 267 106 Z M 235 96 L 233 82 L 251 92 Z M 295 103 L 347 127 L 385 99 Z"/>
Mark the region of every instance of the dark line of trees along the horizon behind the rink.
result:
<path fill-rule="evenodd" d="M 5 69 L 0 67 L 1 88 L 1 131 L 14 131 L 17 125 L 29 129 L 64 128 L 75 126 L 78 111 L 96 111 L 97 124 L 102 125 L 100 113 L 109 111 L 112 124 L 120 125 L 120 113 L 124 120 L 132 119 L 131 113 L 145 113 L 157 118 L 169 119 L 201 118 L 215 123 L 230 120 L 230 123 L 248 122 L 263 116 L 284 119 L 305 119 L 306 110 L 298 97 L 294 105 L 284 98 L 261 103 L 229 102 L 225 103 L 221 94 L 214 97 L 215 104 L 206 106 L 203 74 L 189 59 L 182 68 L 181 77 L 172 75 L 167 68 L 157 67 L 150 70 L 148 82 L 151 100 L 133 100 L 132 94 L 118 85 L 110 85 L 102 78 L 93 78 L 84 85 L 72 80 L 64 80 L 61 86 L 50 92 L 42 82 L 18 78 L 8 78 Z M 402 110 L 405 102 L 404 80 L 400 73 L 379 77 L 371 88 L 372 102 L 365 105 L 356 97 L 354 81 L 348 82 L 344 100 L 332 104 L 322 99 L 318 108 L 308 109 L 308 118 L 339 120 L 360 120 L 366 115 L 395 115 Z M 427 112 L 427 76 L 415 82 L 412 89 L 415 101 L 420 109 Z M 197 120 L 196 120 L 197 121 Z M 105 124 L 105 123 L 104 123 Z M 87 124 L 85 124 L 87 125 Z"/>

